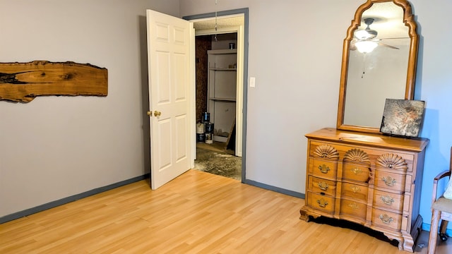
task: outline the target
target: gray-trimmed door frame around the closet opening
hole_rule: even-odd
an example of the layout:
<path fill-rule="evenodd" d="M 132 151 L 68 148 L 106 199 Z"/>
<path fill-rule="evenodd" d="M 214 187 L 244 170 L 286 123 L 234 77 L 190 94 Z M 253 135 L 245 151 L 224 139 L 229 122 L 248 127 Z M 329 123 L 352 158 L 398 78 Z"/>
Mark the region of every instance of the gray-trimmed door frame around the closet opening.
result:
<path fill-rule="evenodd" d="M 244 27 L 243 27 L 243 90 L 242 90 L 242 183 L 246 181 L 246 111 L 247 111 L 247 98 L 248 98 L 248 28 L 249 28 L 249 9 L 248 8 L 239 8 L 228 11 L 218 11 L 213 13 L 203 13 L 191 16 L 182 17 L 184 20 L 189 20 L 194 23 L 196 20 L 206 19 L 206 18 L 215 18 L 218 16 L 234 16 L 234 15 L 243 15 L 244 16 Z M 237 32 L 238 33 L 238 32 Z M 193 38 L 194 40 L 194 38 Z M 194 50 L 194 47 L 193 47 Z M 193 71 L 195 71 L 193 69 Z M 193 98 L 195 97 L 195 87 L 191 88 L 193 92 Z M 191 108 L 194 109 L 194 104 L 196 103 L 196 99 L 193 100 Z M 191 110 L 194 114 L 194 110 Z M 196 114 L 191 117 L 191 126 L 196 125 Z M 194 136 L 192 148 L 192 157 L 196 158 L 196 137 Z M 194 163 L 192 164 L 194 167 Z"/>

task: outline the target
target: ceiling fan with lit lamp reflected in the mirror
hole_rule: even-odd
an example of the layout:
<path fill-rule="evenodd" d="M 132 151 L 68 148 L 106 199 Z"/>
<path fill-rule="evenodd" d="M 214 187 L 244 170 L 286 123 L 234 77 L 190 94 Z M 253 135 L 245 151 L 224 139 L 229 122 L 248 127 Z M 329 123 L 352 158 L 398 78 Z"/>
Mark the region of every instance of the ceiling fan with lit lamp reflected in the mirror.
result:
<path fill-rule="evenodd" d="M 357 30 L 355 32 L 355 37 L 350 42 L 350 50 L 358 50 L 361 53 L 370 53 L 377 46 L 388 47 L 391 49 L 399 49 L 398 47 L 393 47 L 388 44 L 380 42 L 381 40 L 376 39 L 379 34 L 376 30 L 371 30 L 370 25 L 374 23 L 375 18 L 364 18 L 364 24 L 367 28 L 364 30 Z"/>

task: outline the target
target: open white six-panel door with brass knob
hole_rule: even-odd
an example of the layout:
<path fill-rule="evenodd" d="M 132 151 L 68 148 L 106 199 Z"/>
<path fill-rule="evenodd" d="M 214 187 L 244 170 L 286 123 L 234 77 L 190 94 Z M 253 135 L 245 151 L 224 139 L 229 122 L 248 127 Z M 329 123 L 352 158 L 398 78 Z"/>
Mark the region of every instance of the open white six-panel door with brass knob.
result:
<path fill-rule="evenodd" d="M 191 167 L 190 31 L 186 20 L 147 10 L 150 182 L 153 190 Z"/>

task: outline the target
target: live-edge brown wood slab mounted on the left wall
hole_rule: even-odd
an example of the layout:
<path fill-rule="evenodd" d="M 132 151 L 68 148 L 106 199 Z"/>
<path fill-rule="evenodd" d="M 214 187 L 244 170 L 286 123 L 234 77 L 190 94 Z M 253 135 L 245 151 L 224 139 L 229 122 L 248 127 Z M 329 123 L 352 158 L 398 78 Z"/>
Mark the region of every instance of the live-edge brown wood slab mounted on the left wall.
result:
<path fill-rule="evenodd" d="M 0 63 L 0 100 L 30 102 L 43 95 L 107 96 L 107 68 L 90 63 Z"/>

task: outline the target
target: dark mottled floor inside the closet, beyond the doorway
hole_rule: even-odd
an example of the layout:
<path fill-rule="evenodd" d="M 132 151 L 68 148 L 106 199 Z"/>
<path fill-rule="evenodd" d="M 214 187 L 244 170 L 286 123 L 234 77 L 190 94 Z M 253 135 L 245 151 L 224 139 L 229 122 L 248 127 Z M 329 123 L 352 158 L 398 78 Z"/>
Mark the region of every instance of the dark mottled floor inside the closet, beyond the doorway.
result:
<path fill-rule="evenodd" d="M 226 150 L 225 143 L 197 143 L 195 169 L 241 181 L 242 157 Z"/>

